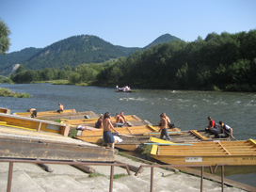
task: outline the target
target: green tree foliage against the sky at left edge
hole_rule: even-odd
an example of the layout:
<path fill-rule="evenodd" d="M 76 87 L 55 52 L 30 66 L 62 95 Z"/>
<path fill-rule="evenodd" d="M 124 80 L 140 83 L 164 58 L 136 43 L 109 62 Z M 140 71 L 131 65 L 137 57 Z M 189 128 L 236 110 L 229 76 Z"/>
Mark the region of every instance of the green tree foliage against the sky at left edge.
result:
<path fill-rule="evenodd" d="M 10 40 L 8 38 L 10 31 L 8 25 L 0 19 L 0 54 L 5 55 L 8 52 Z"/>

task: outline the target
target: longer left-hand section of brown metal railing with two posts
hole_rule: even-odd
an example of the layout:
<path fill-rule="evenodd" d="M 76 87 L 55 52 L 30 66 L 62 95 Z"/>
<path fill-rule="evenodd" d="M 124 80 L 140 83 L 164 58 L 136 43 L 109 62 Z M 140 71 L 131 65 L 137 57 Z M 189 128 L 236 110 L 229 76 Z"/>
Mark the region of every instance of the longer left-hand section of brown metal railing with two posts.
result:
<path fill-rule="evenodd" d="M 114 167 L 124 167 L 127 170 L 128 175 L 131 175 L 130 169 L 127 164 L 118 164 L 115 162 L 77 162 L 77 161 L 59 161 L 59 160 L 31 160 L 31 159 L 1 159 L 0 162 L 8 162 L 8 188 L 7 191 L 10 192 L 11 190 L 11 182 L 12 182 L 12 173 L 13 173 L 13 164 L 14 163 L 31 163 L 31 164 L 58 164 L 58 165 L 70 165 L 70 166 L 81 166 L 81 165 L 88 165 L 88 166 L 110 166 L 110 184 L 109 184 L 109 191 L 113 191 L 113 180 L 114 180 Z"/>

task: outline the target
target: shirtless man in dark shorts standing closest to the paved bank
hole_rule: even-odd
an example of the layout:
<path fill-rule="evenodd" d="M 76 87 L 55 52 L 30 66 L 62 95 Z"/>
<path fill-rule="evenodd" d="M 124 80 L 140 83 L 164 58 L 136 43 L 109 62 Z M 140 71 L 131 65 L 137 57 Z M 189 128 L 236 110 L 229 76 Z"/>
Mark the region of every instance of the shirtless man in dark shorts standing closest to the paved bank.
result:
<path fill-rule="evenodd" d="M 106 148 L 110 148 L 110 144 L 111 144 L 111 147 L 114 149 L 115 140 L 111 132 L 111 129 L 113 129 L 115 132 L 117 132 L 117 130 L 113 127 L 110 120 L 110 115 L 108 112 L 104 113 L 103 125 L 104 125 L 104 143 L 106 143 Z"/>

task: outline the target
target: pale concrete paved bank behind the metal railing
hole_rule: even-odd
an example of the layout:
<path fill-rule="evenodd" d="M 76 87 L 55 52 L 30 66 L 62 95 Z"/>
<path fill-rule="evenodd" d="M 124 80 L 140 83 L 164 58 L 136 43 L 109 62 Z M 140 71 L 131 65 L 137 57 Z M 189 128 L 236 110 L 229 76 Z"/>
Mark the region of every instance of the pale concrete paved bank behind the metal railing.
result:
<path fill-rule="evenodd" d="M 141 163 L 117 155 L 117 161 L 139 167 Z M 104 176 L 88 177 L 85 173 L 72 166 L 48 165 L 54 169 L 46 172 L 38 165 L 15 163 L 13 168 L 12 192 L 104 192 L 109 191 L 110 167 L 93 167 L 96 172 Z M 151 186 L 151 168 L 144 168 L 135 176 L 135 172 L 128 176 L 125 168 L 115 167 L 114 173 L 125 174 L 120 179 L 114 179 L 115 192 L 149 192 Z M 153 191 L 200 191 L 200 178 L 184 173 L 174 173 L 171 170 L 154 168 Z M 0 191 L 7 191 L 8 163 L 0 163 Z M 204 191 L 221 191 L 221 184 L 203 181 Z M 225 186 L 225 191 L 243 191 Z"/>

